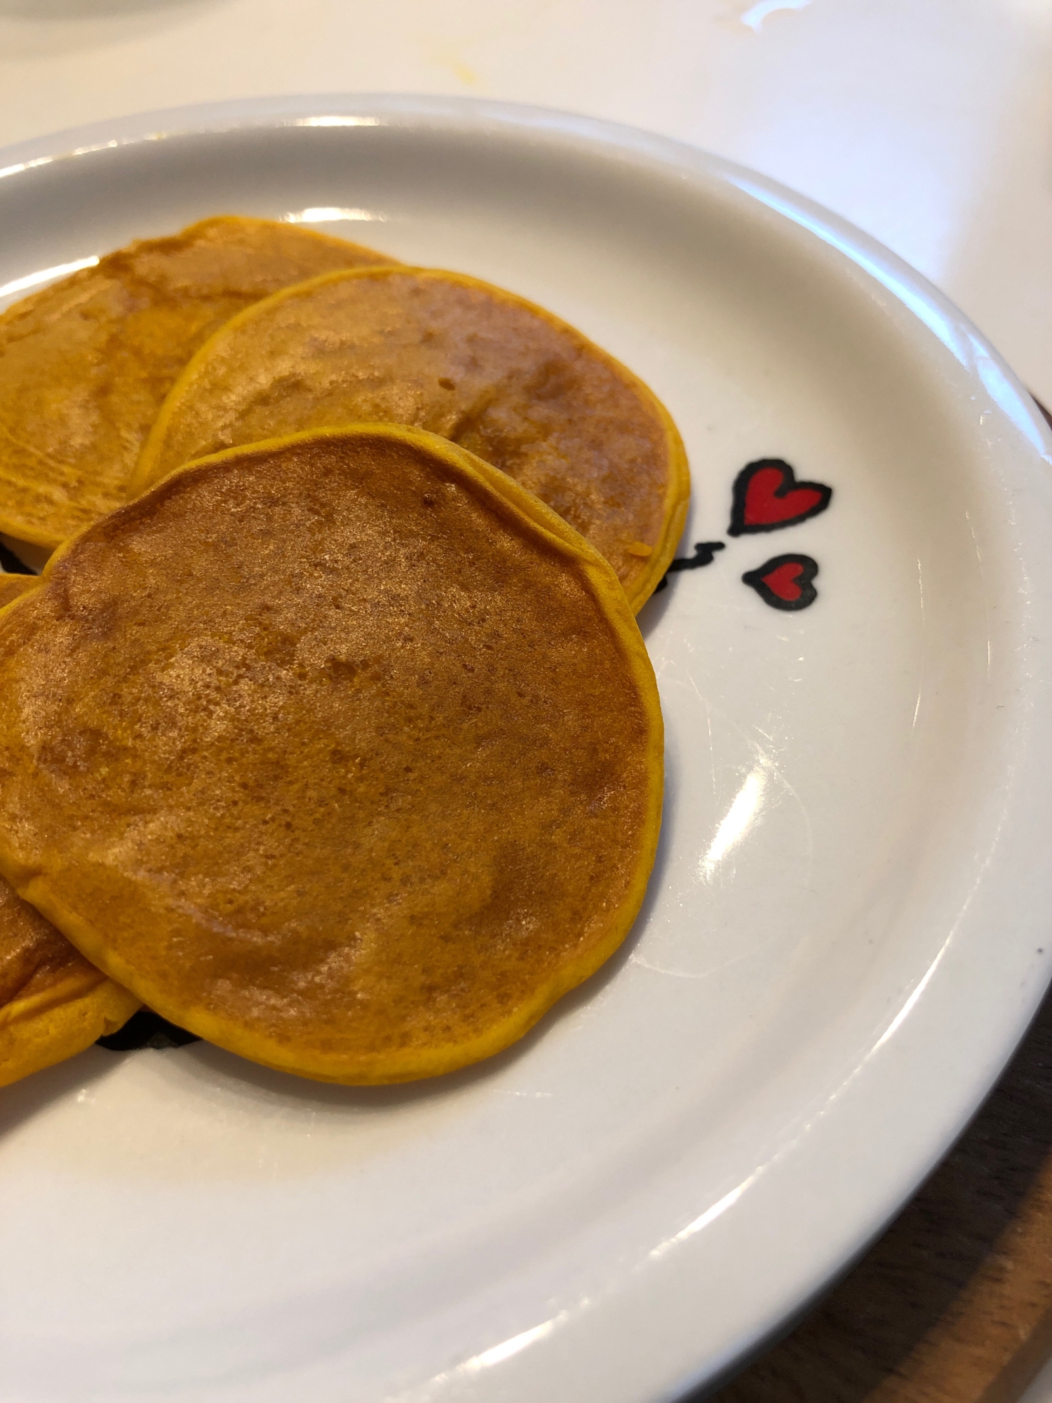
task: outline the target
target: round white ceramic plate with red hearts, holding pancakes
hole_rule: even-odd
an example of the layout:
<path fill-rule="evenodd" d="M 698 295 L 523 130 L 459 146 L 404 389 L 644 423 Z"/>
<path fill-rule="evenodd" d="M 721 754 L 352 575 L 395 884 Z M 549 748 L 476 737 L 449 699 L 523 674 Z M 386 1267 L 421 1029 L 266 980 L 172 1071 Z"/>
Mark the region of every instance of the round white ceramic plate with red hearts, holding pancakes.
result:
<path fill-rule="evenodd" d="M 518 1048 L 387 1090 L 196 1044 L 3 1094 L 17 1403 L 642 1403 L 711 1381 L 947 1148 L 1049 971 L 1048 439 L 857 230 L 624 128 L 417 98 L 129 119 L 0 157 L 0 283 L 236 210 L 551 307 L 679 422 L 661 854 Z M 17 290 L 17 286 L 13 289 Z M 760 457 L 828 511 L 728 536 Z M 783 612 L 742 582 L 819 565 Z"/>

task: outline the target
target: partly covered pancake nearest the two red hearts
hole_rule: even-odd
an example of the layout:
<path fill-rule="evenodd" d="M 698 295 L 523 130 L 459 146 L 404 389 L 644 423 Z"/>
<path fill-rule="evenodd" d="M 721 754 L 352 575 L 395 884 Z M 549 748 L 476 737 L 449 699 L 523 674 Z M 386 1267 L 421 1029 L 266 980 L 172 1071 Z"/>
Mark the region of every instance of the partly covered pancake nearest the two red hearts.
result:
<path fill-rule="evenodd" d="M 668 570 L 690 480 L 645 384 L 501 288 L 431 268 L 314 278 L 223 327 L 180 376 L 132 492 L 205 453 L 351 422 L 440 434 L 536 492 L 640 609 Z"/>

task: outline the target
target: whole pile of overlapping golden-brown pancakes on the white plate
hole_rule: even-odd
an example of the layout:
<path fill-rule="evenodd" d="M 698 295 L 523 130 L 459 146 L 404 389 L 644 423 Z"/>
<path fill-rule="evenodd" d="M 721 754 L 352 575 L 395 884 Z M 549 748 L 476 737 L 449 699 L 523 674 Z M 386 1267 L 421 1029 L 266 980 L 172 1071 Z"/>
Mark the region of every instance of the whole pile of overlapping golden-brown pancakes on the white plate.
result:
<path fill-rule="evenodd" d="M 140 1003 L 356 1085 L 519 1038 L 642 901 L 687 492 L 574 328 L 295 224 L 0 316 L 0 1085 Z"/>

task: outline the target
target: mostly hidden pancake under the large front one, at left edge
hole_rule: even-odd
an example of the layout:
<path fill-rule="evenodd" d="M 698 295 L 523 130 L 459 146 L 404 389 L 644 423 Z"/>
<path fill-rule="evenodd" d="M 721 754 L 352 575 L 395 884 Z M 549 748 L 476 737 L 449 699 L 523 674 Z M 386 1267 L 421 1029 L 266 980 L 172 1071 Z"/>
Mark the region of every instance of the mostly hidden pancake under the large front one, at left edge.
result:
<path fill-rule="evenodd" d="M 0 574 L 0 606 L 38 584 Z M 0 1086 L 83 1052 L 137 1007 L 0 877 Z"/>

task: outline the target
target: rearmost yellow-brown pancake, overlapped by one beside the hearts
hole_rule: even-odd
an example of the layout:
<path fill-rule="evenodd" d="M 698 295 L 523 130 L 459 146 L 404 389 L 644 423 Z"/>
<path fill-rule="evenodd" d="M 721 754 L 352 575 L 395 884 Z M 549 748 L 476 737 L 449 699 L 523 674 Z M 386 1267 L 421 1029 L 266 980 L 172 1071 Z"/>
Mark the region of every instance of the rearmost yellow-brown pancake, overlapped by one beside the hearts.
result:
<path fill-rule="evenodd" d="M 125 498 L 164 396 L 229 317 L 335 268 L 390 262 L 268 219 L 144 239 L 0 314 L 0 532 L 56 546 Z"/>

